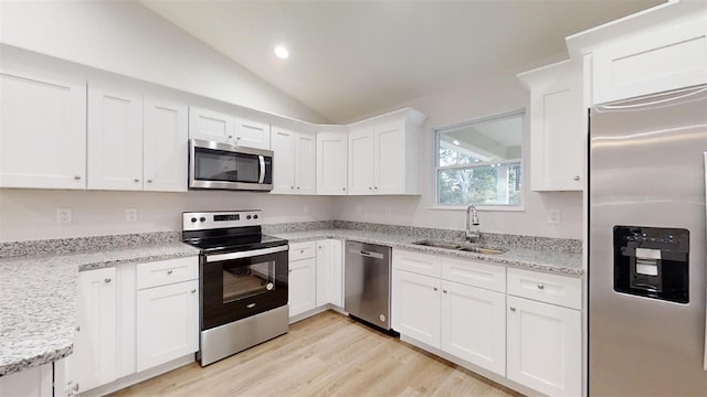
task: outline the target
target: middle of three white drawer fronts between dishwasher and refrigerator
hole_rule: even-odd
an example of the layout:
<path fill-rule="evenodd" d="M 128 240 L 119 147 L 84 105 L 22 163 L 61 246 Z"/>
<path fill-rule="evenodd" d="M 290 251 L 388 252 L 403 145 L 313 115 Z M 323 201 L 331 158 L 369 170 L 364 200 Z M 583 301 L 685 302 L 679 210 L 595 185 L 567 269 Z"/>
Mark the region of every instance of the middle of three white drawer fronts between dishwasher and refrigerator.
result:
<path fill-rule="evenodd" d="M 442 278 L 472 287 L 506 292 L 506 267 L 472 260 L 442 259 Z"/>

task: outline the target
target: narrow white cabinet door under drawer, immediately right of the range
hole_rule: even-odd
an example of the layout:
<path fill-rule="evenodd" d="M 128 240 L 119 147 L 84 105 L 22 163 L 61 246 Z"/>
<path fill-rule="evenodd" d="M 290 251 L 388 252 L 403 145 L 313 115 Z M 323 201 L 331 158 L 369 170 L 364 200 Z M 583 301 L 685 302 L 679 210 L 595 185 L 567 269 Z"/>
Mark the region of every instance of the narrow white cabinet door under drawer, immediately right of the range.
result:
<path fill-rule="evenodd" d="M 289 316 L 309 311 L 317 305 L 317 259 L 289 262 Z"/>

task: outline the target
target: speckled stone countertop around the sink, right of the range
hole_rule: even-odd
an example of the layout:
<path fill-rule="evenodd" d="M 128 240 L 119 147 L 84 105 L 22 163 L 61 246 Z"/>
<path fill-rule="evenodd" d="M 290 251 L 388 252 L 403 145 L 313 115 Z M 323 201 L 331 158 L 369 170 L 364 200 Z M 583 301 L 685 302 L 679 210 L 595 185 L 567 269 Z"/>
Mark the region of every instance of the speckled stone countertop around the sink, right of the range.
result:
<path fill-rule="evenodd" d="M 271 235 L 286 238 L 289 243 L 310 242 L 321 238 L 351 239 L 361 243 L 386 245 L 392 248 L 414 250 L 426 254 L 447 255 L 457 258 L 476 259 L 509 267 L 547 271 L 564 276 L 582 277 L 582 255 L 564 253 L 561 249 L 529 249 L 516 247 L 500 247 L 507 249 L 499 255 L 483 255 L 444 248 L 426 247 L 412 244 L 424 238 L 419 236 L 377 233 L 356 229 L 320 229 L 293 233 L 271 233 Z M 461 242 L 460 242 L 461 243 Z M 493 248 L 493 247 L 492 247 Z"/>

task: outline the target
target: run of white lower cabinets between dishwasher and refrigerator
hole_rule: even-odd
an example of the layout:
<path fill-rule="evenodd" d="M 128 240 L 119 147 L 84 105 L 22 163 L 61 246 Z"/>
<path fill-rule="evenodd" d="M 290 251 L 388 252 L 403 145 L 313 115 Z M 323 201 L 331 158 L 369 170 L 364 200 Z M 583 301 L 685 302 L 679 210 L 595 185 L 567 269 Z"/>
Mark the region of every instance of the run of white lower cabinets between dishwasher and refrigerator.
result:
<path fill-rule="evenodd" d="M 402 336 L 549 396 L 581 395 L 581 279 L 393 250 L 392 288 Z"/>

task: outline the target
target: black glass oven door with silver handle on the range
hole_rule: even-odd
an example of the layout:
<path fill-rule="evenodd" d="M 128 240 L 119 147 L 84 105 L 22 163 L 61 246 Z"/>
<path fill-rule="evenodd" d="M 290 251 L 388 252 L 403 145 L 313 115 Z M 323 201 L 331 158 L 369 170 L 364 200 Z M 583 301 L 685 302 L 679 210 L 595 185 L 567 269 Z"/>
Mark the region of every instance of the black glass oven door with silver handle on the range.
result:
<path fill-rule="evenodd" d="M 204 256 L 201 330 L 287 304 L 288 246 Z"/>

